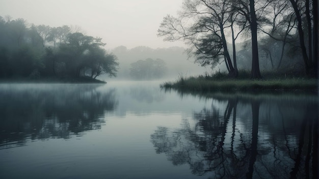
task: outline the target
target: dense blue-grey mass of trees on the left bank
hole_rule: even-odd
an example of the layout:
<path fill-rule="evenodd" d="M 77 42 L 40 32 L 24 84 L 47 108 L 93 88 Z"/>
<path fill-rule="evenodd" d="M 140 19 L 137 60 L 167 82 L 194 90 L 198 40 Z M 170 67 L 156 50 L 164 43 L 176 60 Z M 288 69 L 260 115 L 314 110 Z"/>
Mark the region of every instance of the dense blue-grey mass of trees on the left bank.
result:
<path fill-rule="evenodd" d="M 28 25 L 0 16 L 0 78 L 116 76 L 117 57 L 101 40 L 67 25 Z"/>

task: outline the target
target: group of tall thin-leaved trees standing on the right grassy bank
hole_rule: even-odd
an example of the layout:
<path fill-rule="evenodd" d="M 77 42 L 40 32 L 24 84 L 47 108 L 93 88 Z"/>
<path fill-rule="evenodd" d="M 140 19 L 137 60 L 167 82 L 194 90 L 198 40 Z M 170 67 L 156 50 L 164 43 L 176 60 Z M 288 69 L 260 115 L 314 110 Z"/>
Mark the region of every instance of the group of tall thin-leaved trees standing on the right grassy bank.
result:
<path fill-rule="evenodd" d="M 202 66 L 215 67 L 225 62 L 232 77 L 237 76 L 235 40 L 239 35 L 246 42 L 251 39 L 248 43 L 252 53 L 249 55 L 251 78 L 261 78 L 260 57 L 268 59 L 273 70 L 299 71 L 296 66 L 302 65 L 308 76 L 317 77 L 315 3 L 310 0 L 184 0 L 178 16 L 164 17 L 157 32 L 165 41 L 182 40 L 188 44 L 189 54 L 195 55 L 196 62 Z M 232 50 L 228 47 L 229 34 Z M 280 49 L 276 54 L 272 53 L 274 46 Z M 289 61 L 291 51 L 302 54 L 299 57 L 302 63 L 296 58 Z"/>

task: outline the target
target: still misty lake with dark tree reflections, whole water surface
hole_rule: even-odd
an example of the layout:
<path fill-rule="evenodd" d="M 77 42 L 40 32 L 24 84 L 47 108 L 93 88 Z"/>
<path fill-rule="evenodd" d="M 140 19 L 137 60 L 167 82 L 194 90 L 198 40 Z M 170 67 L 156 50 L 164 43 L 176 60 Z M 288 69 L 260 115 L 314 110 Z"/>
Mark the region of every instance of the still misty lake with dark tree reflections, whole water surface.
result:
<path fill-rule="evenodd" d="M 318 96 L 0 84 L 0 178 L 312 178 Z"/>

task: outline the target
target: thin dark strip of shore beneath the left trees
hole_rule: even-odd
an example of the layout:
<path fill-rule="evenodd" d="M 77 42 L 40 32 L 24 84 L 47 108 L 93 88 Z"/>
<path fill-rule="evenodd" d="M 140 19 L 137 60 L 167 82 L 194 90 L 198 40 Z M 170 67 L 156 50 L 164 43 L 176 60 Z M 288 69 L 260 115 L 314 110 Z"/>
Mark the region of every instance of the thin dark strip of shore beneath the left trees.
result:
<path fill-rule="evenodd" d="M 41 77 L 41 78 L 7 78 L 0 83 L 107 83 L 90 77 Z"/>

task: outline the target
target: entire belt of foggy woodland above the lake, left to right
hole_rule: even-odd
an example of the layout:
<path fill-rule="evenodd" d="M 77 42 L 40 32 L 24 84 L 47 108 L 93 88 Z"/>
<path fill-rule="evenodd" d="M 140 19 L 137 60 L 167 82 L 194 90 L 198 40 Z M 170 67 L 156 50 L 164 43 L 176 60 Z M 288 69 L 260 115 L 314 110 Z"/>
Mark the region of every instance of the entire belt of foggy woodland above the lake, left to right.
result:
<path fill-rule="evenodd" d="M 63 25 L 0 16 L 0 78 L 119 76 L 150 80 L 241 70 L 317 77 L 316 1 L 184 1 L 157 36 L 187 49 L 119 46 Z M 195 65 L 194 65 L 195 64 Z M 202 66 L 202 67 L 199 67 Z"/>

